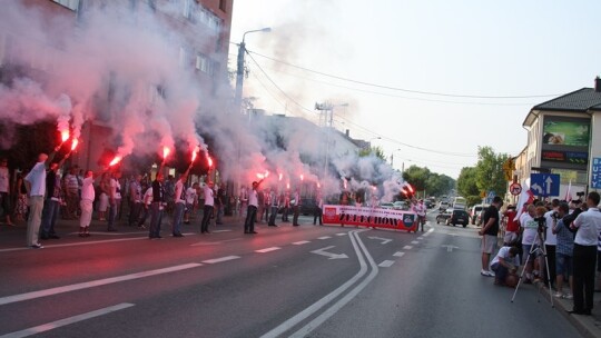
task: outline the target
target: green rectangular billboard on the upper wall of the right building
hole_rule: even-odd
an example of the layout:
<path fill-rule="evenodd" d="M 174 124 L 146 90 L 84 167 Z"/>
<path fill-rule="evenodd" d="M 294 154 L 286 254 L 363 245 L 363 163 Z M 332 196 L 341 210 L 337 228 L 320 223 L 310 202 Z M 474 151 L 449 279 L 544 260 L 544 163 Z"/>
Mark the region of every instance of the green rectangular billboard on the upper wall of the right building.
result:
<path fill-rule="evenodd" d="M 591 121 L 563 117 L 544 117 L 543 145 L 589 147 Z"/>

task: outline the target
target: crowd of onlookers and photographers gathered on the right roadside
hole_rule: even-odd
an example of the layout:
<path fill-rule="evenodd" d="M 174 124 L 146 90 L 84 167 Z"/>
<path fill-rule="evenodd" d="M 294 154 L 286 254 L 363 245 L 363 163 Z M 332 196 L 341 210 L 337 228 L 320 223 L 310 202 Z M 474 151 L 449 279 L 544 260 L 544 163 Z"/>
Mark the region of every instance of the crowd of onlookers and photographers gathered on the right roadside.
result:
<path fill-rule="evenodd" d="M 601 291 L 599 203 L 600 195 L 591 191 L 585 201 L 534 200 L 521 210 L 509 206 L 501 212 L 503 201 L 495 197 L 484 211 L 480 230 L 481 275 L 509 287 L 520 280 L 541 281 L 550 286 L 554 297 L 573 300 L 570 314 L 590 316 L 593 292 Z M 501 220 L 505 233 L 503 247 L 496 250 Z"/>

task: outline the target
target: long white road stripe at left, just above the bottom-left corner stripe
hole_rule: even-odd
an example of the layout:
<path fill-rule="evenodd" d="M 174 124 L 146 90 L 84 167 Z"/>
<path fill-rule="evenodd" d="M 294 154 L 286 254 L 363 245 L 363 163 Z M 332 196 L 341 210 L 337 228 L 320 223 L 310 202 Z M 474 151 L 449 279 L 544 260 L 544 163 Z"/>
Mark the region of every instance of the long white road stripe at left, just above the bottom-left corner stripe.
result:
<path fill-rule="evenodd" d="M 169 274 L 169 272 L 175 272 L 175 271 L 181 271 L 181 270 L 193 269 L 193 268 L 197 268 L 197 267 L 201 267 L 201 266 L 203 265 L 198 264 L 198 262 L 190 262 L 190 264 L 185 264 L 185 265 L 164 268 L 164 269 L 141 271 L 141 272 L 136 272 L 136 274 L 130 274 L 130 275 L 118 276 L 118 277 L 110 277 L 110 278 L 97 279 L 97 280 L 92 280 L 92 281 L 72 284 L 72 285 L 69 285 L 69 286 L 56 287 L 56 288 L 50 288 L 50 289 L 46 289 L 46 290 L 26 292 L 26 294 L 20 294 L 20 295 L 13 295 L 13 296 L 8 296 L 8 297 L 0 298 L 0 306 L 1 305 L 7 305 L 7 304 L 12 304 L 12 302 L 18 302 L 18 301 L 23 301 L 23 300 L 30 300 L 30 299 L 47 297 L 47 296 L 53 296 L 53 295 L 57 295 L 57 294 L 65 294 L 65 292 L 70 292 L 70 291 L 76 291 L 76 290 L 82 290 L 82 289 L 105 286 L 105 285 L 126 281 L 126 280 L 134 280 L 134 279 L 144 278 L 144 277 L 150 277 L 150 276 L 164 275 L 164 274 Z"/>

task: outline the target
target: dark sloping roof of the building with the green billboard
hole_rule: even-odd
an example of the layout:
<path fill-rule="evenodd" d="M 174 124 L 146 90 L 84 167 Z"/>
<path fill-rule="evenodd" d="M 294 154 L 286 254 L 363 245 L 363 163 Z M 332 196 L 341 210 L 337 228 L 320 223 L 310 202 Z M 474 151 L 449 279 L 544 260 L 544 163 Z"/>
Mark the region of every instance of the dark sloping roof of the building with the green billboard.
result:
<path fill-rule="evenodd" d="M 538 117 L 538 113 L 534 111 L 541 110 L 577 113 L 587 113 L 589 110 L 601 110 L 601 92 L 594 91 L 594 88 L 582 88 L 546 102 L 539 103 L 529 111 L 522 126 L 531 126 Z"/>

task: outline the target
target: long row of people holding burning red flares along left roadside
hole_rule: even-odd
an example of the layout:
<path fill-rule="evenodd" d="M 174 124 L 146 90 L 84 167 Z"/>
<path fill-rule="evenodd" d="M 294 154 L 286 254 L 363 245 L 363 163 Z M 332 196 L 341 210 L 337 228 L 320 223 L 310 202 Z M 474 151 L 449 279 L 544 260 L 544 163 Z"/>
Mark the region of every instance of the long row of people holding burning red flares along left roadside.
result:
<path fill-rule="evenodd" d="M 250 189 L 240 187 L 236 196 L 226 196 L 225 189 L 205 178 L 204 182 L 188 182 L 189 169 L 165 178 L 159 169 L 154 180 L 149 173 L 122 177 L 118 169 L 101 172 L 86 171 L 77 166 L 63 168 L 69 155 L 55 161 L 50 155 L 40 153 L 37 163 L 28 172 L 19 172 L 11 180 L 7 159 L 0 159 L 0 211 L 4 225 L 13 226 L 27 220 L 27 245 L 43 248 L 41 240 L 60 239 L 56 230 L 59 218 L 79 221 L 79 237 L 89 237 L 90 222 L 96 219 L 106 223 L 106 231 L 117 231 L 118 223 L 146 229 L 150 239 L 160 239 L 165 215 L 170 216 L 171 235 L 184 237 L 183 223 L 190 223 L 199 210 L 200 233 L 209 233 L 209 223 L 221 225 L 226 205 L 230 212 L 245 220 L 245 233 L 257 233 L 255 222 L 277 227 L 276 219 L 298 226 L 303 203 L 299 189 L 276 191 L 259 189 L 253 182 Z M 14 207 L 13 207 L 14 206 Z M 314 223 L 322 225 L 323 199 L 316 197 Z"/>

